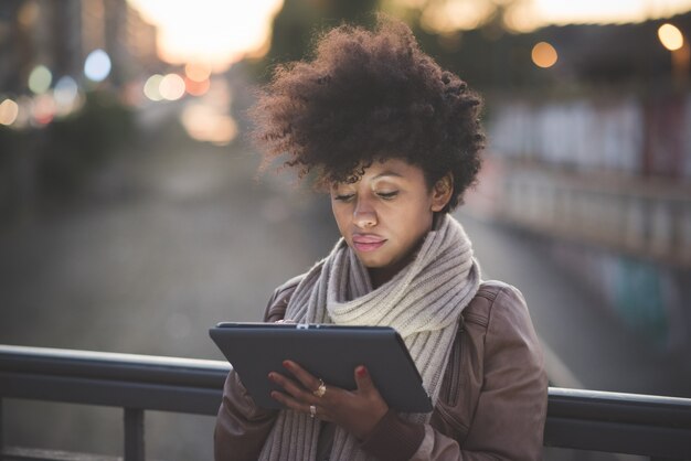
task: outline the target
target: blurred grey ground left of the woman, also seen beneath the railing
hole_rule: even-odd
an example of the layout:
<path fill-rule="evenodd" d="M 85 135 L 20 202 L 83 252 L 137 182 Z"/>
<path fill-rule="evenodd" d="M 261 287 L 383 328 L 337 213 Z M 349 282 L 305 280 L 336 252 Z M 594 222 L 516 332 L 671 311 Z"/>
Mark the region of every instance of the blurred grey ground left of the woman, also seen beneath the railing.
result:
<path fill-rule="evenodd" d="M 152 146 L 114 156 L 78 203 L 2 228 L 0 343 L 222 360 L 208 329 L 261 320 L 273 289 L 329 250 L 326 201 L 258 178 L 242 148 L 192 142 L 172 116 L 162 125 Z M 6 443 L 120 452 L 116 409 L 4 410 Z M 149 412 L 147 450 L 211 459 L 212 428 Z"/>

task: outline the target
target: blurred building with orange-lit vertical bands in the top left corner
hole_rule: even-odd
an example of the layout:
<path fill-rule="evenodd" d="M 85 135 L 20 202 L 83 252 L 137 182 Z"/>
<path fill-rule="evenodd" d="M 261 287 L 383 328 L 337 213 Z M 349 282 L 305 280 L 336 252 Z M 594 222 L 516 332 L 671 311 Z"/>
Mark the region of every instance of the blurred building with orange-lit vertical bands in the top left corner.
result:
<path fill-rule="evenodd" d="M 86 56 L 104 50 L 109 83 L 156 68 L 156 28 L 126 0 L 3 0 L 0 2 L 0 92 L 28 93 L 32 69 L 44 65 L 56 81 L 84 83 Z"/>

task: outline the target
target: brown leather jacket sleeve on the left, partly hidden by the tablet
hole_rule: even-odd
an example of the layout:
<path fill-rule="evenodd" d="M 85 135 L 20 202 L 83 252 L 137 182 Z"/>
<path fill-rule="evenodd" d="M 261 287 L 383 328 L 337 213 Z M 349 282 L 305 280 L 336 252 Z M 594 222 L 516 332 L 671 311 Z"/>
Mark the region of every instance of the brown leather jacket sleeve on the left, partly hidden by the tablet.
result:
<path fill-rule="evenodd" d="M 264 321 L 283 319 L 288 299 L 296 283 L 286 283 L 274 292 L 264 313 Z M 277 410 L 258 408 L 234 369 L 223 386 L 223 401 L 219 408 L 214 430 L 214 460 L 256 460 L 268 437 Z"/>

